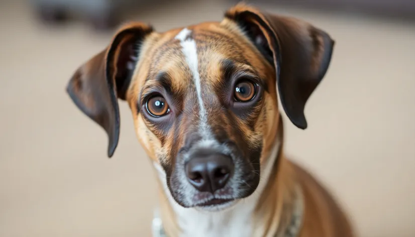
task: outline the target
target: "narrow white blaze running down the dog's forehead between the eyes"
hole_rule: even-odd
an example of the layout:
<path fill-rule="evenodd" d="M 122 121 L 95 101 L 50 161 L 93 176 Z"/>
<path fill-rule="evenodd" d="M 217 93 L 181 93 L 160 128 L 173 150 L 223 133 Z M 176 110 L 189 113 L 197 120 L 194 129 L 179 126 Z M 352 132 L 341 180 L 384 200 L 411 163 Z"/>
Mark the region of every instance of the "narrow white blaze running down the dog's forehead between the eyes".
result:
<path fill-rule="evenodd" d="M 186 63 L 190 68 L 194 79 L 194 85 L 196 86 L 197 100 L 199 103 L 199 116 L 200 116 L 200 132 L 204 136 L 209 136 L 209 126 L 207 126 L 207 114 L 206 109 L 204 108 L 201 85 L 200 85 L 200 75 L 198 70 L 198 60 L 197 60 L 197 48 L 196 42 L 191 38 L 191 31 L 187 28 L 184 28 L 176 35 L 175 39 L 180 40 L 180 45 L 182 47 L 181 51 L 186 58 Z"/>

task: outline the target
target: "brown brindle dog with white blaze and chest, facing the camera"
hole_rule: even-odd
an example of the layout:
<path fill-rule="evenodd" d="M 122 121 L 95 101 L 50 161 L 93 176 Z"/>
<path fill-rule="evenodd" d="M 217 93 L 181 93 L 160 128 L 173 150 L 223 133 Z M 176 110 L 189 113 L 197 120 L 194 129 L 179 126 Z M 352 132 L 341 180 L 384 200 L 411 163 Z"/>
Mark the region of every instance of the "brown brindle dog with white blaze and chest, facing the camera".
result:
<path fill-rule="evenodd" d="M 156 236 L 351 237 L 333 196 L 283 152 L 278 105 L 305 129 L 304 106 L 334 40 L 302 20 L 238 4 L 223 21 L 158 33 L 126 24 L 74 73 L 67 92 L 108 133 L 128 102 L 159 181 Z"/>

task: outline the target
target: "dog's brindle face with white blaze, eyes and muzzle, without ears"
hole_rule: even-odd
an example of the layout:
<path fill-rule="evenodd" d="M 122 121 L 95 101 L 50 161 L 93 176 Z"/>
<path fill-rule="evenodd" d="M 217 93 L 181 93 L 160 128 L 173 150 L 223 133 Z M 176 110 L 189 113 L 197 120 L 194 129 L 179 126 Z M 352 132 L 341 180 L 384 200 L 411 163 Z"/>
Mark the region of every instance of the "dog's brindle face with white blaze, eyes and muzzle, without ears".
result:
<path fill-rule="evenodd" d="M 275 70 L 237 25 L 154 34 L 127 100 L 138 138 L 183 206 L 249 196 L 277 116 Z"/>

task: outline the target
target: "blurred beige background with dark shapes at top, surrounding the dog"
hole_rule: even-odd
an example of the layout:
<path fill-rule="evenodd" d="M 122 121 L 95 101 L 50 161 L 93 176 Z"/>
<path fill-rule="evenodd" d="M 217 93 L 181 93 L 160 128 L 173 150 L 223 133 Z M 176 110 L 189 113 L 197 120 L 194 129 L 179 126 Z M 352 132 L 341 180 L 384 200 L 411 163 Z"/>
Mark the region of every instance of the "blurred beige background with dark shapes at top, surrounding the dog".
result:
<path fill-rule="evenodd" d="M 0 1 L 0 236 L 149 236 L 156 177 L 121 102 L 121 138 L 65 93 L 114 26 L 166 31 L 220 21 L 229 0 Z M 358 236 L 415 236 L 415 2 L 249 1 L 336 40 L 308 128 L 285 120 L 286 152 L 350 214 Z M 285 118 L 285 114 L 284 114 Z"/>

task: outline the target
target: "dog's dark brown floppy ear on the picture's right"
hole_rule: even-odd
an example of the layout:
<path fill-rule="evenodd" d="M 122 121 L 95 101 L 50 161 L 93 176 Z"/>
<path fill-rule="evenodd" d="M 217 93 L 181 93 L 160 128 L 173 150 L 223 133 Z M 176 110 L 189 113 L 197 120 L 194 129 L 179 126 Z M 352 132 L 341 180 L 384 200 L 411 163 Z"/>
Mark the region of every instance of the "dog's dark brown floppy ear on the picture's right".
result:
<path fill-rule="evenodd" d="M 304 21 L 242 4 L 228 10 L 225 16 L 236 22 L 275 66 L 285 113 L 295 126 L 305 129 L 304 106 L 326 74 L 334 41 L 326 32 Z"/>

